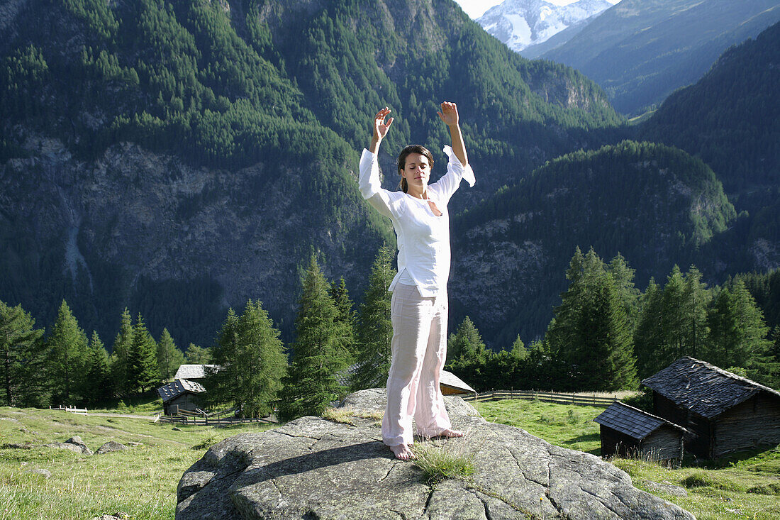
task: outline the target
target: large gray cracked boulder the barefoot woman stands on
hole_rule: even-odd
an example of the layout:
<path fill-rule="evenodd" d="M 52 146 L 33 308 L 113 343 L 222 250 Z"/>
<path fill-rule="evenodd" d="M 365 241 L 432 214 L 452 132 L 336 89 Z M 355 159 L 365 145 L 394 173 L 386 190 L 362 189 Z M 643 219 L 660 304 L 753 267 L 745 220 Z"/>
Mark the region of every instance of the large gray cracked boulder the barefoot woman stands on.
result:
<path fill-rule="evenodd" d="M 179 481 L 176 518 L 693 518 L 600 458 L 445 399 L 466 437 L 422 442 L 472 456 L 466 479 L 428 485 L 415 465 L 392 458 L 376 418 L 359 416 L 367 413 L 353 424 L 303 417 L 211 447 Z M 342 408 L 381 411 L 384 401 L 384 390 L 363 390 Z"/>

